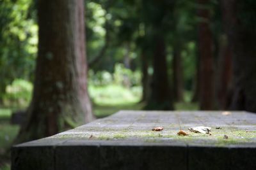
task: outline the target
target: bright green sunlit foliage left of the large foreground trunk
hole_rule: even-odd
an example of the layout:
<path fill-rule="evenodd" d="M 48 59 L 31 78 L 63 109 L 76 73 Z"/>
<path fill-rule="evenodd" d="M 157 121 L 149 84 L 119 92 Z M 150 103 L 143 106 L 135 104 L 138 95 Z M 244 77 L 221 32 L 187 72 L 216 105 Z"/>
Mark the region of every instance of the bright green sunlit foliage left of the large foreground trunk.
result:
<path fill-rule="evenodd" d="M 2 0 L 0 5 L 0 97 L 15 78 L 31 80 L 37 51 L 31 0 Z"/>

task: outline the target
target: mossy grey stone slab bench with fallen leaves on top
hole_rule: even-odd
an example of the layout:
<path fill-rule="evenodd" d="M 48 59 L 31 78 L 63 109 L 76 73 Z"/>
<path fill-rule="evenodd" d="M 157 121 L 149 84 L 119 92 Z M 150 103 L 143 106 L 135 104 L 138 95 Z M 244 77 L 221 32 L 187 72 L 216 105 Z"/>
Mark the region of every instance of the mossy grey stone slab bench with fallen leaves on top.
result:
<path fill-rule="evenodd" d="M 188 131 L 201 125 L 212 127 L 211 135 Z M 159 126 L 163 131 L 152 131 Z M 189 135 L 178 136 L 180 129 Z M 13 146 L 12 169 L 256 169 L 256 114 L 119 111 Z"/>

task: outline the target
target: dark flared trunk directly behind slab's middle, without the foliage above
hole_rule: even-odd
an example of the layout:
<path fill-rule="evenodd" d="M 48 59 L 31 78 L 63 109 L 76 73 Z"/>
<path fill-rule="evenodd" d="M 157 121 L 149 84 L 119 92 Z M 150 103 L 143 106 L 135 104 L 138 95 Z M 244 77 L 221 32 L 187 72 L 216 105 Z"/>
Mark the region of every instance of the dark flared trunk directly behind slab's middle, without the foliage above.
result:
<path fill-rule="evenodd" d="M 154 37 L 155 48 L 153 56 L 154 73 L 151 85 L 150 101 L 146 106 L 149 110 L 173 110 L 173 101 L 168 82 L 166 65 L 166 47 L 163 36 Z"/>

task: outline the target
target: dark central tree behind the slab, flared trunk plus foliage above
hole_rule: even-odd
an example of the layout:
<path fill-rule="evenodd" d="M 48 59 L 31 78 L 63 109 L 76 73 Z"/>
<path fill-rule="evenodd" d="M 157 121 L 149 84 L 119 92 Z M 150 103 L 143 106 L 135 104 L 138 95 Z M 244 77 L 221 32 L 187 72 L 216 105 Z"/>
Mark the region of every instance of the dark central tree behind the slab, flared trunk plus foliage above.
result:
<path fill-rule="evenodd" d="M 150 3 L 149 3 L 150 2 Z M 147 103 L 148 110 L 173 110 L 173 96 L 168 80 L 168 67 L 166 62 L 166 39 L 163 32 L 168 31 L 172 22 L 168 17 L 172 15 L 173 1 L 143 1 L 145 27 L 150 29 L 152 36 L 152 62 L 153 76 L 150 99 Z"/>

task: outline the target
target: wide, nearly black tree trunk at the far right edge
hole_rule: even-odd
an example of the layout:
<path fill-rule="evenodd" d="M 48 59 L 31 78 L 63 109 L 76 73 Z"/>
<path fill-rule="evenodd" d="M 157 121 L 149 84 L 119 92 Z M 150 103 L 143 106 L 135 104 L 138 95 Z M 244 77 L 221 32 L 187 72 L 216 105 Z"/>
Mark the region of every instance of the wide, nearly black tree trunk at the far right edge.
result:
<path fill-rule="evenodd" d="M 222 0 L 234 67 L 232 110 L 256 112 L 255 1 Z"/>

